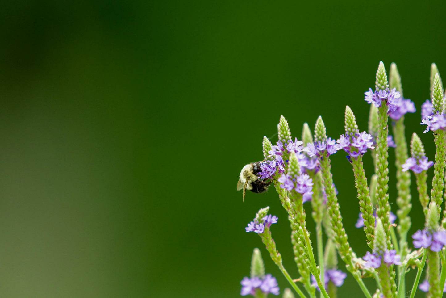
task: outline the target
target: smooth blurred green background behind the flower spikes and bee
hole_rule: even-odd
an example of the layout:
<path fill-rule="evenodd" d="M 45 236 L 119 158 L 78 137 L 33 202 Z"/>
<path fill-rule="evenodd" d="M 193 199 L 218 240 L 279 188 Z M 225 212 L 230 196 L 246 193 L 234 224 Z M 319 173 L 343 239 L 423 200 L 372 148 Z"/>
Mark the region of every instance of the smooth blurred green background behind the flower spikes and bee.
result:
<path fill-rule="evenodd" d="M 273 189 L 249 192 L 242 203 L 241 168 L 262 159 L 262 138 L 274 135 L 281 115 L 293 136 L 322 115 L 339 137 L 349 105 L 366 129 L 363 92 L 380 60 L 387 69 L 397 63 L 404 95 L 417 106 L 406 117 L 407 137 L 420 134 L 432 159 L 419 111 L 430 63 L 446 75 L 445 8 L 4 1 L 0 297 L 239 297 L 255 247 L 283 290 L 285 278 L 244 227 L 270 206 L 279 217 L 273 237 L 297 277 L 286 212 Z M 364 160 L 370 175 L 371 157 Z M 332 165 L 344 226 L 363 256 L 351 166 L 343 153 Z M 390 183 L 395 202 L 393 149 Z M 409 234 L 423 224 L 412 189 Z M 310 215 L 307 222 L 311 229 Z M 347 277 L 339 297 L 359 296 Z"/>

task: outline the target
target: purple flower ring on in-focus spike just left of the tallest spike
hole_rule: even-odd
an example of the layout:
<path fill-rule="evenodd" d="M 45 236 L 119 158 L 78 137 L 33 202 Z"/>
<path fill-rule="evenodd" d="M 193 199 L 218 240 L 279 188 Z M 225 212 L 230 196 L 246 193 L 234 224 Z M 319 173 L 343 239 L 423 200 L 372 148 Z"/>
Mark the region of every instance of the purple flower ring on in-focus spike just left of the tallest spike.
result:
<path fill-rule="evenodd" d="M 353 134 L 344 134 L 336 140 L 339 147 L 344 149 L 350 157 L 357 158 L 367 152 L 367 149 L 374 149 L 372 136 L 367 132 L 357 132 Z"/>

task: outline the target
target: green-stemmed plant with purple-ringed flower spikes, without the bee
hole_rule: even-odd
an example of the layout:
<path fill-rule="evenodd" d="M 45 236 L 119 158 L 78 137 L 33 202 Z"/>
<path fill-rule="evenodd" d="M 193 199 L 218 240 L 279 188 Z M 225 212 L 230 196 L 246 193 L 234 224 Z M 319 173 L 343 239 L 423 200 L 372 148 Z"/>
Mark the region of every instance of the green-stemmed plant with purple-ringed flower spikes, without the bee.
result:
<path fill-rule="evenodd" d="M 404 298 L 408 293 L 413 298 L 417 289 L 425 291 L 429 298 L 442 297 L 443 292 L 446 292 L 446 208 L 443 207 L 442 212 L 443 200 L 446 198 L 446 101 L 438 68 L 434 63 L 431 65 L 431 98 L 421 106 L 421 124 L 426 125 L 424 132 L 433 132 L 436 149 L 434 161 L 426 157 L 424 145 L 416 133 L 413 133 L 408 148 L 404 116 L 416 109 L 410 99 L 403 97 L 401 77 L 395 63 L 391 64 L 388 76 L 383 62 L 380 62 L 376 71 L 375 89 L 369 88 L 364 94 L 365 101 L 371 104 L 368 132 L 361 132 L 353 111 L 347 106 L 345 133 L 338 139 L 327 136 L 321 116 L 316 120 L 314 134 L 309 125 L 304 124 L 302 141 L 297 138 L 293 141 L 283 116 L 277 125 L 276 145 L 267 137 L 263 139 L 264 161 L 260 163 L 261 172 L 256 173 L 256 176 L 264 182 L 273 183 L 288 213 L 294 259 L 300 276 L 291 277 L 282 264 L 281 254 L 270 230 L 278 218 L 268 215 L 269 207 L 257 212 L 245 228 L 246 232 L 255 232 L 260 236 L 271 259 L 300 298 L 315 298 L 317 293 L 323 298 L 337 297 L 337 287 L 342 286 L 347 277 L 347 273 L 337 268 L 338 255 L 367 298 Z M 389 122 L 393 137 L 388 134 Z M 390 211 L 388 196 L 389 147 L 395 147 L 396 215 Z M 339 150 L 347 153 L 355 179 L 359 203 L 356 227 L 363 227 L 371 250 L 363 257 L 357 257 L 348 242 L 337 190 L 333 184 L 330 155 Z M 370 179 L 367 178 L 362 161 L 368 151 L 372 154 L 374 164 Z M 427 170 L 432 166 L 434 178 L 429 194 Z M 412 235 L 412 245 L 408 241 L 412 224 L 409 215 L 412 208 L 409 170 L 415 175 L 418 199 L 425 216 L 424 228 Z M 316 224 L 316 255 L 306 227 L 304 203 L 307 201 L 311 202 L 311 207 L 307 208 L 311 208 Z M 322 241 L 323 232 L 327 235 L 325 244 Z M 420 282 L 424 268 L 425 279 Z M 405 275 L 411 269 L 417 269 L 417 275 L 414 283 L 407 285 L 410 290 L 406 291 Z M 366 277 L 375 279 L 374 291 L 364 285 L 363 278 Z M 268 294 L 279 294 L 276 278 L 265 274 L 258 248 L 254 249 L 252 255 L 251 277 L 244 277 L 241 284 L 241 295 L 264 298 Z M 283 297 L 295 296 L 287 288 Z"/>

